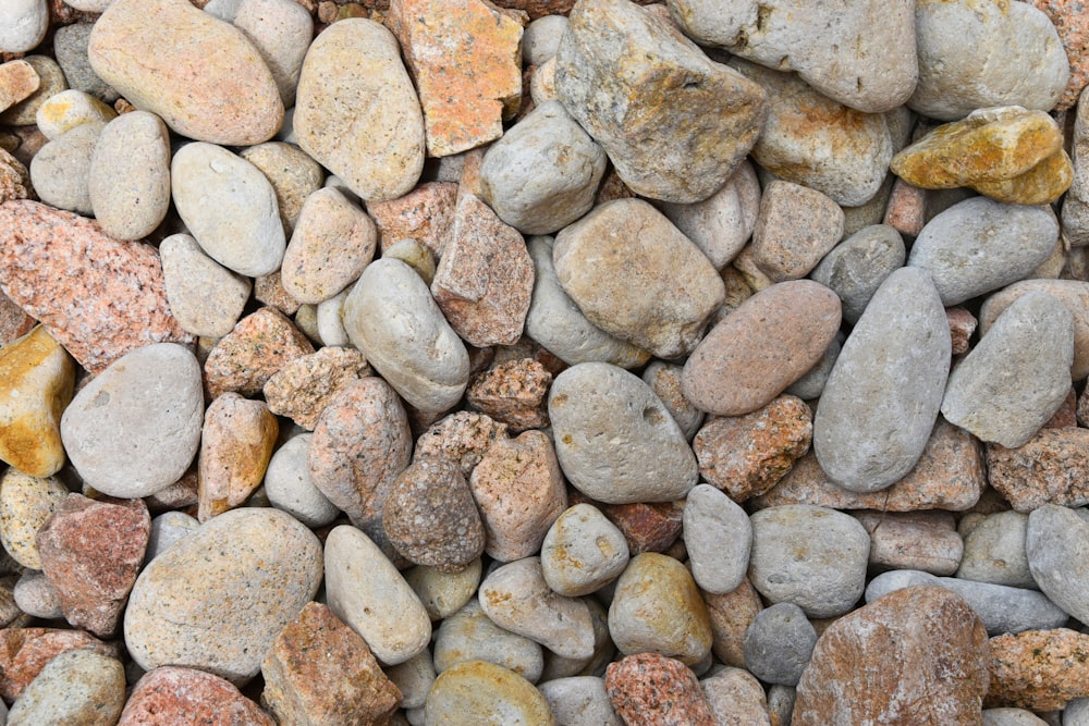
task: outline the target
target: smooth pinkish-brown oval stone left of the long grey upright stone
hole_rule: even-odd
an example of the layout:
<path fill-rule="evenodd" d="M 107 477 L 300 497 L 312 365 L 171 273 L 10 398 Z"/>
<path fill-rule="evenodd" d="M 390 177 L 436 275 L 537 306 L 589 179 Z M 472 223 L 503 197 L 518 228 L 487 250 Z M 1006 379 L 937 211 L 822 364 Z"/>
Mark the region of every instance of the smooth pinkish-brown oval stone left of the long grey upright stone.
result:
<path fill-rule="evenodd" d="M 700 341 L 681 378 L 685 397 L 719 416 L 769 405 L 824 355 L 840 329 L 835 293 L 810 280 L 771 285 Z"/>

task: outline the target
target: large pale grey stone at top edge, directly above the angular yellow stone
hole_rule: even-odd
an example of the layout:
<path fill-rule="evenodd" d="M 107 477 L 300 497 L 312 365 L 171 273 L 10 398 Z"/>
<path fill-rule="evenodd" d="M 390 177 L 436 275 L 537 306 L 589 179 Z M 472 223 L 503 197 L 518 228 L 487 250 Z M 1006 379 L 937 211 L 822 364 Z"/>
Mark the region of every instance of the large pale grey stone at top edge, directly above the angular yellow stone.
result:
<path fill-rule="evenodd" d="M 1048 111 L 1066 88 L 1059 33 L 1031 3 L 922 0 L 915 32 L 919 83 L 907 106 L 921 115 L 953 121 L 1012 104 Z"/>

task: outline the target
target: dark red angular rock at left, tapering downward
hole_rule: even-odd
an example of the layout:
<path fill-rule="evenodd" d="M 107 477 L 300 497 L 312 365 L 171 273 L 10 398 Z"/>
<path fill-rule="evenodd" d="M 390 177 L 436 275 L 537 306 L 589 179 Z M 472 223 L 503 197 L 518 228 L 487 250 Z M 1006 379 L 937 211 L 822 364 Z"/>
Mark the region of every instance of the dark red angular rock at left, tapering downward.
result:
<path fill-rule="evenodd" d="M 69 494 L 38 530 L 46 579 L 64 619 L 111 638 L 144 564 L 151 517 L 143 500 L 89 500 Z"/>

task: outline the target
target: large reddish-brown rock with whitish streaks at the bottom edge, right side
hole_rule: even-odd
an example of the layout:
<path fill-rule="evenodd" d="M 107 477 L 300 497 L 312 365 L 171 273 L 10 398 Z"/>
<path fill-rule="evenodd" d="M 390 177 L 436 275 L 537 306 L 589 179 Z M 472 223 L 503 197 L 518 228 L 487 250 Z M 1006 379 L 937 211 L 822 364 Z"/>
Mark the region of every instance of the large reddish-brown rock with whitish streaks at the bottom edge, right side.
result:
<path fill-rule="evenodd" d="M 988 662 L 987 630 L 960 598 L 896 590 L 824 630 L 792 723 L 980 725 Z"/>

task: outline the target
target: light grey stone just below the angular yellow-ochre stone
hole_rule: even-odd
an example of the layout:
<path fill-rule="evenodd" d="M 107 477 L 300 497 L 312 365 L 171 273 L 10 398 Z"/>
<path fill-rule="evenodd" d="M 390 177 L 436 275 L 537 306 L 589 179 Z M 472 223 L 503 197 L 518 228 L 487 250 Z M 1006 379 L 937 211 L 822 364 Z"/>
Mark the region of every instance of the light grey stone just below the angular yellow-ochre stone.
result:
<path fill-rule="evenodd" d="M 946 306 L 1025 278 L 1051 256 L 1059 221 L 1048 207 L 972 197 L 922 227 L 907 258 L 930 273 Z"/>

